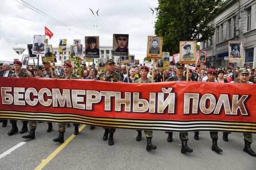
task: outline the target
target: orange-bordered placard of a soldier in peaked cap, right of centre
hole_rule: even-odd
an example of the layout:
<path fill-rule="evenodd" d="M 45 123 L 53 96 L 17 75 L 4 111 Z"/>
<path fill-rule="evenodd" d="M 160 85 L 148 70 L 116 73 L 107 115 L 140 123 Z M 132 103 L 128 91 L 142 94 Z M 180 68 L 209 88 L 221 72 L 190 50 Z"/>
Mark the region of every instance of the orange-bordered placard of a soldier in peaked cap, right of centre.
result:
<path fill-rule="evenodd" d="M 196 62 L 196 41 L 180 41 L 180 63 Z"/>

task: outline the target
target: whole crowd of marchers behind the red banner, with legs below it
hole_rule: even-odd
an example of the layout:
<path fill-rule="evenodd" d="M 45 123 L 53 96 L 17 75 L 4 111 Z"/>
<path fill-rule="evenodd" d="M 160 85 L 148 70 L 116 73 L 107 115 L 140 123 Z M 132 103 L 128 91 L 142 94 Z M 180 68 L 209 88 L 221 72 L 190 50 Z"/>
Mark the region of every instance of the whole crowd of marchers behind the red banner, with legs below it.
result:
<path fill-rule="evenodd" d="M 123 83 L 150 83 L 152 76 L 154 82 L 168 82 L 168 81 L 186 81 L 187 73 L 184 68 L 184 64 L 176 63 L 176 68 L 174 69 L 154 69 L 152 73 L 152 68 L 148 68 L 143 65 L 139 66 L 128 66 L 128 65 L 116 65 L 114 60 L 109 59 L 106 61 L 104 70 L 97 70 L 94 67 L 87 67 L 83 63 L 83 75 L 76 76 L 73 74 L 74 70 L 71 63 L 64 63 L 60 68 L 52 68 L 51 64 L 48 62 L 43 63 L 43 67 L 39 66 L 28 66 L 27 69 L 22 69 L 22 63 L 20 61 L 15 61 L 11 66 L 9 63 L 3 63 L 0 67 L 0 77 L 47 77 L 47 78 L 60 78 L 60 79 L 85 79 L 85 80 L 95 80 L 95 81 L 107 81 L 107 82 L 123 82 Z M 38 70 L 38 73 L 37 73 Z M 247 68 L 207 68 L 200 69 L 200 66 L 196 70 L 189 70 L 188 73 L 189 81 L 202 81 L 202 82 L 220 82 L 220 83 L 256 83 L 256 68 L 251 69 Z M 7 126 L 7 120 L 2 121 L 2 127 Z M 12 124 L 12 129 L 8 132 L 8 135 L 11 136 L 18 132 L 17 120 L 10 120 Z M 27 127 L 28 122 L 23 121 L 23 126 L 20 130 L 20 133 L 25 133 L 28 131 Z M 30 132 L 27 135 L 22 136 L 24 139 L 35 139 L 35 129 L 37 122 L 30 121 L 29 128 Z M 74 135 L 79 134 L 78 126 L 79 124 L 74 125 Z M 54 140 L 54 142 L 64 142 L 64 133 L 66 126 L 70 126 L 69 123 L 58 123 L 59 136 Z M 52 131 L 52 123 L 48 122 L 47 132 Z M 90 126 L 90 130 L 93 130 L 94 126 Z M 103 134 L 103 140 L 108 139 L 108 145 L 114 145 L 114 133 L 115 128 L 106 128 L 104 127 L 105 132 Z M 140 141 L 142 138 L 142 131 L 138 130 L 136 140 Z M 145 136 L 147 138 L 146 150 L 155 150 L 156 145 L 152 144 L 153 131 L 144 130 Z M 167 141 L 172 142 L 173 133 L 168 133 Z M 222 139 L 228 141 L 229 132 L 223 132 Z M 217 145 L 218 132 L 210 132 L 210 137 L 212 139 L 212 150 L 216 152 L 222 152 Z M 250 145 L 252 143 L 252 134 L 243 133 L 244 137 L 244 148 L 243 151 L 249 153 L 249 155 L 256 157 L 256 153 L 252 151 Z M 193 149 L 188 146 L 188 132 L 180 132 L 180 139 L 182 142 L 182 153 L 193 152 Z M 194 139 L 199 139 L 199 132 L 195 132 Z"/>

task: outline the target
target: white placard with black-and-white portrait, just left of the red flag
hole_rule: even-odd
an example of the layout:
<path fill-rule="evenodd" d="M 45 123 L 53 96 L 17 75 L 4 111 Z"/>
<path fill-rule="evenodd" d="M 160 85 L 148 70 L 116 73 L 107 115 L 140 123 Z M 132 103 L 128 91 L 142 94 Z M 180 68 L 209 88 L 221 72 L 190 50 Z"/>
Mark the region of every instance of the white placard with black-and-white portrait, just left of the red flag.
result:
<path fill-rule="evenodd" d="M 32 54 L 45 53 L 45 35 L 34 35 Z"/>

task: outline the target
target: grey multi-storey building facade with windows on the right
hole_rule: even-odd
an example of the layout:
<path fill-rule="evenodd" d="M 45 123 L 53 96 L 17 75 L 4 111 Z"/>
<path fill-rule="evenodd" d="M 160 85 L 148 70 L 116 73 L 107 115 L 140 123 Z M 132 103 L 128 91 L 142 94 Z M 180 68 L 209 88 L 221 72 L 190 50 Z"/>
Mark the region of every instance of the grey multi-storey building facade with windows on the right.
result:
<path fill-rule="evenodd" d="M 229 41 L 242 41 L 242 63 L 236 66 L 256 67 L 256 0 L 229 0 L 229 5 L 209 22 L 216 32 L 200 43 L 207 51 L 207 67 L 229 66 Z"/>

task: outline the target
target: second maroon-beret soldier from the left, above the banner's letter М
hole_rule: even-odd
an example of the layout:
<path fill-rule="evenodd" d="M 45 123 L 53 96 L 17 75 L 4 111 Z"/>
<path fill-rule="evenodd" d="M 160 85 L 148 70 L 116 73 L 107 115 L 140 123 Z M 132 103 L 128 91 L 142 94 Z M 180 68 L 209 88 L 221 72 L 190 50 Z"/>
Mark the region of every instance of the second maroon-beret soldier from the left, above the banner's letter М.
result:
<path fill-rule="evenodd" d="M 59 79 L 79 79 L 74 74 L 71 74 L 71 70 L 72 70 L 71 68 L 72 68 L 71 63 L 66 62 L 63 66 L 64 74 L 60 75 L 58 78 Z M 79 130 L 78 130 L 79 124 L 73 123 L 73 125 L 74 125 L 74 135 L 78 135 L 78 133 L 79 133 Z M 65 130 L 66 130 L 66 123 L 58 123 L 58 126 L 59 126 L 59 137 L 55 138 L 54 142 L 63 143 L 64 142 L 64 133 L 65 133 Z"/>

